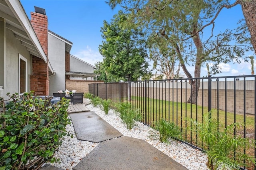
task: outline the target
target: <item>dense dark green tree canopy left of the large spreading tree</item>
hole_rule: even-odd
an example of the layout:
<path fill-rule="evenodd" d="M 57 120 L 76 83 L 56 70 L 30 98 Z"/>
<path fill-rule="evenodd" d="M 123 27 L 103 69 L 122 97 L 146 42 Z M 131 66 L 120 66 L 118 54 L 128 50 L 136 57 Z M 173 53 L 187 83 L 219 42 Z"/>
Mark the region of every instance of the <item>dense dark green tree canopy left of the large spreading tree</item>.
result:
<path fill-rule="evenodd" d="M 123 28 L 126 16 L 119 11 L 101 28 L 104 41 L 99 45 L 107 81 L 134 81 L 148 74 L 144 34 L 138 28 Z"/>

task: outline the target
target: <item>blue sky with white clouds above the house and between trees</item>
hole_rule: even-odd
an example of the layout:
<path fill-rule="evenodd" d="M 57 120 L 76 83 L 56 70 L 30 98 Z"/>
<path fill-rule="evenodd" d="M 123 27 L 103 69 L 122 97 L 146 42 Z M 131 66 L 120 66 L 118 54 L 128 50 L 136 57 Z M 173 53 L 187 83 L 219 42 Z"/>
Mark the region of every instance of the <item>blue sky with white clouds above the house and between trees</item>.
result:
<path fill-rule="evenodd" d="M 44 8 L 48 16 L 48 29 L 73 43 L 70 54 L 94 65 L 102 61 L 98 46 L 102 43 L 100 27 L 103 20 L 110 22 L 118 9 L 112 10 L 104 0 L 20 0 L 28 18 L 34 12 L 34 6 Z M 223 10 L 215 22 L 215 30 L 234 28 L 239 19 L 243 18 L 241 6 Z M 246 56 L 254 55 L 253 51 Z M 222 73 L 225 75 L 250 75 L 250 63 L 222 63 Z M 194 67 L 188 67 L 194 74 Z M 155 72 L 154 72 L 155 73 Z M 181 70 L 181 74 L 184 74 Z M 207 75 L 202 68 L 201 76 Z"/>

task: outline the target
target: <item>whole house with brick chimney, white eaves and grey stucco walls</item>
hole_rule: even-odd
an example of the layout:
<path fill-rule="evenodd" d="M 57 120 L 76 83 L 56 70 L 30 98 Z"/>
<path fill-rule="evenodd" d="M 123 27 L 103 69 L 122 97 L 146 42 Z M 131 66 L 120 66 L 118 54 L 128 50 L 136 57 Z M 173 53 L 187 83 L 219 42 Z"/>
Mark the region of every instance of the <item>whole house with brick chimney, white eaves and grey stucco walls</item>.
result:
<path fill-rule="evenodd" d="M 45 12 L 35 8 L 29 20 L 20 1 L 4 0 L 0 6 L 0 97 L 8 99 L 6 93 L 20 89 L 20 93 L 52 95 L 65 90 L 65 80 L 74 75 L 97 76 L 93 65 L 70 57 L 72 42 L 48 30 Z M 19 81 L 19 71 L 24 70 L 19 68 L 19 57 L 26 61 L 26 89 Z"/>

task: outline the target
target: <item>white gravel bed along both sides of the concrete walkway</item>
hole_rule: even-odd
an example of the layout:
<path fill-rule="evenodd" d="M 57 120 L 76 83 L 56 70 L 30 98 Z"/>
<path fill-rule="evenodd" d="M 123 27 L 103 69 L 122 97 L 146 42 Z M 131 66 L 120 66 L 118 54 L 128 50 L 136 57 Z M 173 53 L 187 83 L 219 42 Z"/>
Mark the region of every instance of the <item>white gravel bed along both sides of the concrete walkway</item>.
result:
<path fill-rule="evenodd" d="M 112 127 L 116 128 L 124 136 L 145 140 L 189 170 L 208 169 L 206 166 L 208 158 L 206 154 L 202 153 L 200 150 L 194 149 L 182 142 L 172 141 L 170 144 L 165 144 L 159 142 L 159 140 L 153 140 L 149 137 L 149 131 L 152 130 L 152 128 L 140 122 L 137 122 L 137 125 L 132 128 L 132 130 L 128 130 L 121 122 L 120 117 L 118 117 L 116 112 L 112 109 L 110 109 L 108 115 L 106 115 L 100 107 L 93 107 L 92 104 L 87 105 L 86 107 L 102 117 L 102 119 L 112 125 Z M 68 125 L 66 129 L 70 133 L 75 134 L 72 124 L 71 126 Z M 72 170 L 72 168 L 74 168 L 74 166 L 76 166 L 76 164 L 78 164 L 80 160 L 90 153 L 97 145 L 98 143 L 78 140 L 75 135 L 73 135 L 73 138 L 65 136 L 62 146 L 60 146 L 58 152 L 55 152 L 55 157 L 60 158 L 60 163 L 51 165 L 65 170 Z"/>

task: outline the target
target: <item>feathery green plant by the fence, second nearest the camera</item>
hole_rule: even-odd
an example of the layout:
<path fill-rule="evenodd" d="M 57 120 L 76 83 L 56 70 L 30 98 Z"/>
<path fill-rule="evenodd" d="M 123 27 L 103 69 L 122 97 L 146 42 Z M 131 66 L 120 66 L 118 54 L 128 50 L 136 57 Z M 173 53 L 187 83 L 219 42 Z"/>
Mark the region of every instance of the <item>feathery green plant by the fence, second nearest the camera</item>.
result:
<path fill-rule="evenodd" d="M 169 143 L 170 138 L 175 140 L 182 138 L 180 127 L 173 122 L 170 123 L 164 119 L 160 119 L 160 121 L 154 123 L 152 128 L 155 130 L 150 131 L 150 136 L 157 138 L 160 142 Z"/>

